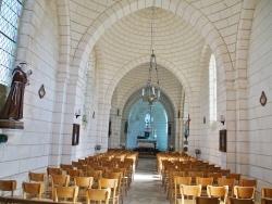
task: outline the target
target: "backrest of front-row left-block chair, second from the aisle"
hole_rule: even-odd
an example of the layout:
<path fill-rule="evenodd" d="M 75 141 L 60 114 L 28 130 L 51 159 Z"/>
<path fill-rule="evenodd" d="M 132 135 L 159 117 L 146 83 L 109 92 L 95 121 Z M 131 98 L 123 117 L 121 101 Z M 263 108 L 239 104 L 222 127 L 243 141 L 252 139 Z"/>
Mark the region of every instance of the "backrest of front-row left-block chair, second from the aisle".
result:
<path fill-rule="evenodd" d="M 72 199 L 73 202 L 76 202 L 78 195 L 78 187 L 54 187 L 54 202 L 59 202 L 59 199 L 62 197 L 64 201 L 66 199 Z"/>

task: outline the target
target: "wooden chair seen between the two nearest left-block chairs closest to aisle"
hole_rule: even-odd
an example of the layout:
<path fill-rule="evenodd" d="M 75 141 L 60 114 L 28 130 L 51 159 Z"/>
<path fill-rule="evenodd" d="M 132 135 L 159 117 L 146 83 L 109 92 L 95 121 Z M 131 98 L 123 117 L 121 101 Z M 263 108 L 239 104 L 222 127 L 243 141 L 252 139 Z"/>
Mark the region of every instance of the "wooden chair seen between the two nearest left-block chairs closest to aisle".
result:
<path fill-rule="evenodd" d="M 78 189 L 78 199 L 86 199 L 86 190 L 91 189 L 94 178 L 92 177 L 75 177 L 75 186 Z"/>

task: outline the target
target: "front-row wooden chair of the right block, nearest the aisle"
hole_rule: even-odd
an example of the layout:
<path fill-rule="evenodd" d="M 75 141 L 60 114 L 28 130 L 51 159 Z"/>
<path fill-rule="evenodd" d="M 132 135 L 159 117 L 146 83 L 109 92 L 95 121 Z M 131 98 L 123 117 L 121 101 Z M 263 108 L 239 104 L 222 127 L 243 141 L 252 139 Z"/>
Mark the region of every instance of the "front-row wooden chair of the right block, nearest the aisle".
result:
<path fill-rule="evenodd" d="M 182 194 L 182 199 L 177 199 L 180 204 L 188 204 L 190 200 L 186 200 L 185 196 L 193 196 L 193 202 L 196 200 L 196 196 L 200 196 L 201 194 L 201 184 L 197 186 L 180 186 L 180 192 Z"/>

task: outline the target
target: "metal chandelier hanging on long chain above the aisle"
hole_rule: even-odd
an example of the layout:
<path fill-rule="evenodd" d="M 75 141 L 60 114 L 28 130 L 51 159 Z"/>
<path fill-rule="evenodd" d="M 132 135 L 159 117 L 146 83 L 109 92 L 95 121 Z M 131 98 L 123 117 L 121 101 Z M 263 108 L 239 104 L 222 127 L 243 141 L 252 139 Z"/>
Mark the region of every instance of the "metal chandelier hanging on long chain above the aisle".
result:
<path fill-rule="evenodd" d="M 150 64 L 148 71 L 148 80 L 147 85 L 143 88 L 141 98 L 144 102 L 148 102 L 150 106 L 152 106 L 153 102 L 160 99 L 160 81 L 156 62 L 156 54 L 153 52 L 153 15 L 154 15 L 154 7 L 152 7 L 152 22 L 151 22 L 151 56 Z M 152 81 L 152 72 L 156 72 L 157 81 L 153 84 Z M 156 85 L 156 86 L 154 86 Z"/>

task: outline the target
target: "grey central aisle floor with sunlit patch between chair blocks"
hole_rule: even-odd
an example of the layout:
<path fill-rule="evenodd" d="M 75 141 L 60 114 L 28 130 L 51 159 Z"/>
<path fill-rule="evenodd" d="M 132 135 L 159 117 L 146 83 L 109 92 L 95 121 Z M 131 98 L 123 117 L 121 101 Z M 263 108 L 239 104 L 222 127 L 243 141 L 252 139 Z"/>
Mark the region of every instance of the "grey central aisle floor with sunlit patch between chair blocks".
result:
<path fill-rule="evenodd" d="M 156 169 L 156 158 L 139 157 L 134 181 L 124 197 L 124 204 L 168 204 L 166 193 L 161 187 Z"/>

